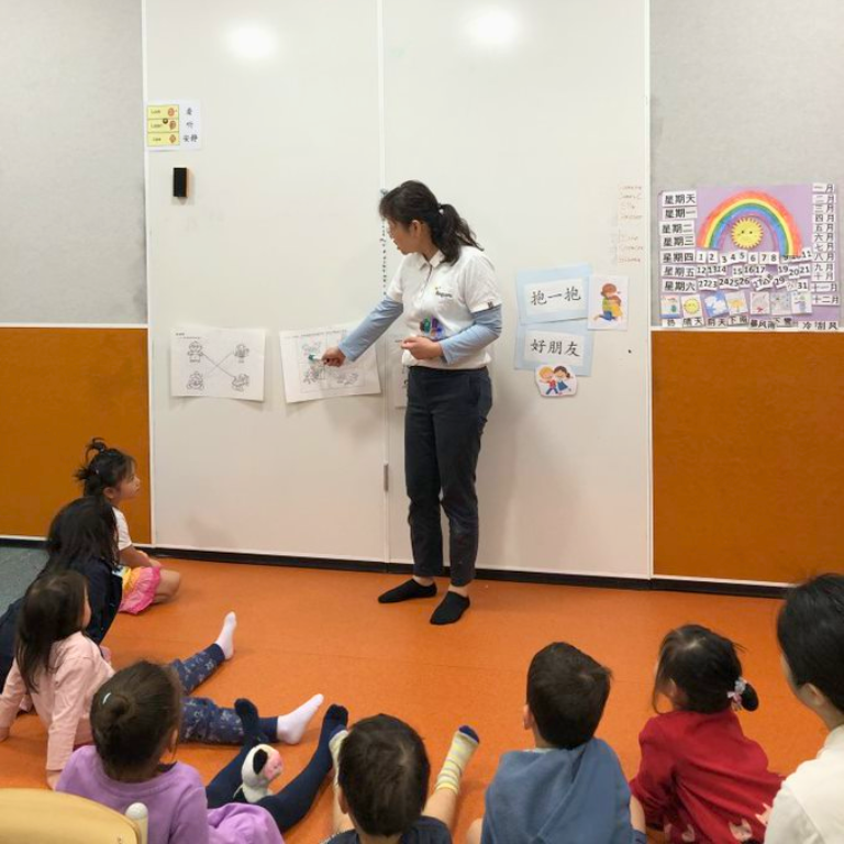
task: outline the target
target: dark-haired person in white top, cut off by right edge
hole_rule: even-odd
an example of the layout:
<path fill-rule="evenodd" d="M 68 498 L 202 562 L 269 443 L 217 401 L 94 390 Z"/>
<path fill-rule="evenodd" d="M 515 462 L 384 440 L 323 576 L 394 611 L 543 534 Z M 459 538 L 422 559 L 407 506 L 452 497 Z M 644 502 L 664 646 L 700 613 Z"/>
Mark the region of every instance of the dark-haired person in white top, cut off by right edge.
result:
<path fill-rule="evenodd" d="M 822 575 L 791 589 L 777 638 L 791 691 L 829 735 L 818 757 L 786 778 L 765 842 L 832 844 L 844 840 L 844 577 Z"/>

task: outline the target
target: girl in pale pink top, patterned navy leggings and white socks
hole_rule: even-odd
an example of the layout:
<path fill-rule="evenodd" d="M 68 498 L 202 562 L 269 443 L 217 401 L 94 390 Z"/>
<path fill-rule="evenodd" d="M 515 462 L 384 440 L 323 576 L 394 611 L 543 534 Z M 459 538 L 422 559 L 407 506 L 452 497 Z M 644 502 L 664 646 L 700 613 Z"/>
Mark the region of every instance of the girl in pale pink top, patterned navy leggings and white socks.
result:
<path fill-rule="evenodd" d="M 18 619 L 15 659 L 0 696 L 0 741 L 9 736 L 25 695 L 47 728 L 47 782 L 55 787 L 75 746 L 90 743 L 88 712 L 97 689 L 114 675 L 98 645 L 82 631 L 90 621 L 86 578 L 77 571 L 44 574 L 26 590 Z M 234 655 L 233 612 L 225 617 L 216 641 L 181 662 L 170 664 L 185 697 L 179 726 L 181 738 L 214 744 L 241 744 L 241 719 L 233 709 L 208 698 L 187 697 Z M 322 704 L 316 695 L 293 712 L 262 719 L 268 741 L 298 743 Z"/>

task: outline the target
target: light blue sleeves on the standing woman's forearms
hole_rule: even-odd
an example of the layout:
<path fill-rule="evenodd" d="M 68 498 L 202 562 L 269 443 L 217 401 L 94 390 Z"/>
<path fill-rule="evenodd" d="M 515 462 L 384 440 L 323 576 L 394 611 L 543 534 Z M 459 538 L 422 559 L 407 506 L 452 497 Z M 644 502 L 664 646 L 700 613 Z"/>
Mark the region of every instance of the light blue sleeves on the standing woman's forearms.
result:
<path fill-rule="evenodd" d="M 385 297 L 363 322 L 340 343 L 340 351 L 356 360 L 402 314 L 404 307 Z M 452 337 L 440 341 L 445 363 L 449 366 L 479 352 L 501 334 L 501 306 L 473 314 L 475 322 Z"/>

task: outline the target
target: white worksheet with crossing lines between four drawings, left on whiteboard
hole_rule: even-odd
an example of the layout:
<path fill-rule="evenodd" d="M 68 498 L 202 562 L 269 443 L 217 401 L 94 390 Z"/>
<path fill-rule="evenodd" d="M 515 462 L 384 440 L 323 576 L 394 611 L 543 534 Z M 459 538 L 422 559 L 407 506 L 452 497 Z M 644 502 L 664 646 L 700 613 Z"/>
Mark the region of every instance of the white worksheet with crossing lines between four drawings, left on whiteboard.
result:
<path fill-rule="evenodd" d="M 170 396 L 264 401 L 263 329 L 170 332 Z"/>

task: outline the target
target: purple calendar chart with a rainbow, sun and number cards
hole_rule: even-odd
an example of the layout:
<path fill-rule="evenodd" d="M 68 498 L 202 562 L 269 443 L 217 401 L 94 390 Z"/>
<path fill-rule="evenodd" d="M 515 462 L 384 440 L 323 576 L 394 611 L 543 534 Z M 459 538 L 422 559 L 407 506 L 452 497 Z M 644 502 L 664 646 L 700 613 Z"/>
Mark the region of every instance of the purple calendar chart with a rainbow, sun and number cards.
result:
<path fill-rule="evenodd" d="M 828 182 L 662 192 L 662 325 L 837 331 L 836 214 Z"/>

